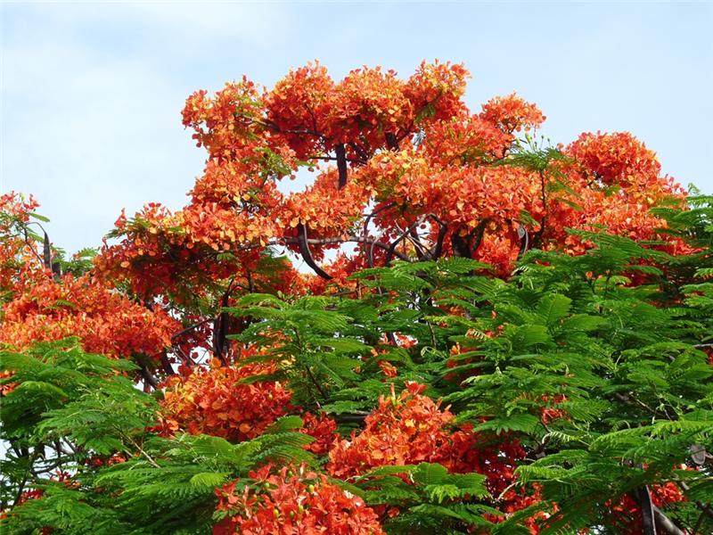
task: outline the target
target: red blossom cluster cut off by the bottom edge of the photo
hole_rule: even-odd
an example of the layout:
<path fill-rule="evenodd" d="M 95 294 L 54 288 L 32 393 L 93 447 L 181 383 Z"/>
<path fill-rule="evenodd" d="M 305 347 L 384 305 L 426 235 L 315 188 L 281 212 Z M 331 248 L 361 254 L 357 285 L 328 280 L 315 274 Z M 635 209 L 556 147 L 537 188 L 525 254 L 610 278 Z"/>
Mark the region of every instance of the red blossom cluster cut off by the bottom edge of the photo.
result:
<path fill-rule="evenodd" d="M 364 500 L 303 466 L 266 465 L 249 474 L 255 481 L 236 491 L 239 481 L 216 490 L 218 511 L 228 515 L 214 535 L 381 535 L 376 514 Z"/>

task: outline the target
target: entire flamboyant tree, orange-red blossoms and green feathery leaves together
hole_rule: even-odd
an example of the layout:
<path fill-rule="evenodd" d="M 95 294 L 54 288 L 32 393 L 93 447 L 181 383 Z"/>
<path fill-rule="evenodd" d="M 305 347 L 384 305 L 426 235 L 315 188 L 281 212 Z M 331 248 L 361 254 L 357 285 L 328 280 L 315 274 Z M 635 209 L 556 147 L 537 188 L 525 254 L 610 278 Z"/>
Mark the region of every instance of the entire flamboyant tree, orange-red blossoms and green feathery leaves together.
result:
<path fill-rule="evenodd" d="M 4 528 L 713 529 L 710 199 L 467 75 L 199 91 L 189 204 L 93 261 L 4 195 Z"/>

